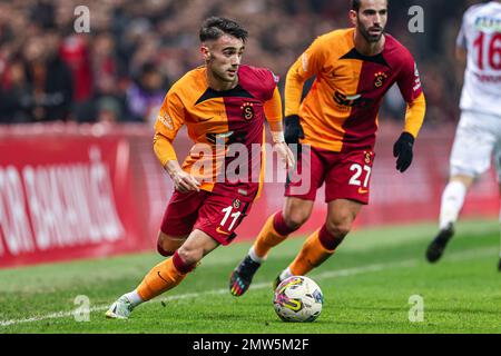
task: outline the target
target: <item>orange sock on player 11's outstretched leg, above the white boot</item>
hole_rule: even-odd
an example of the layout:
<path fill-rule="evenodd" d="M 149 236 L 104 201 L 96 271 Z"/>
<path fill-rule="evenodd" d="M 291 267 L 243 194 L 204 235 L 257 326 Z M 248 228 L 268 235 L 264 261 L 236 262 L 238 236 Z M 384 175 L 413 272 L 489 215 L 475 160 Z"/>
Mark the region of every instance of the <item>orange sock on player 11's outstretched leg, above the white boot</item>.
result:
<path fill-rule="evenodd" d="M 191 267 L 183 265 L 179 256 L 175 254 L 173 258 L 166 259 L 151 268 L 137 287 L 137 293 L 143 301 L 153 299 L 176 287 L 191 269 Z"/>

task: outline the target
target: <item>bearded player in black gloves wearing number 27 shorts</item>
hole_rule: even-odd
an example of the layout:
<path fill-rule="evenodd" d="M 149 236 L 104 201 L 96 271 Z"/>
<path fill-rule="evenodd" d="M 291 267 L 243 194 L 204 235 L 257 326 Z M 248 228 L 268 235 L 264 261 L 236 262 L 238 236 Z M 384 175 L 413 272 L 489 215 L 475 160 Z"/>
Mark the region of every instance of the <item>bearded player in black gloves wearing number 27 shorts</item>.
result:
<path fill-rule="evenodd" d="M 229 288 L 239 296 L 268 251 L 297 230 L 310 217 L 316 190 L 325 182 L 327 217 L 310 236 L 294 261 L 277 277 L 306 275 L 326 260 L 350 233 L 363 205 L 369 202 L 377 113 L 383 96 L 397 83 L 407 103 L 404 129 L 393 154 L 403 172 L 412 161 L 412 148 L 422 126 L 425 100 L 412 55 L 384 33 L 387 0 L 353 0 L 354 28 L 318 37 L 288 71 L 285 85 L 285 139 L 310 147 L 286 185 L 285 205 L 268 218 L 248 255 L 232 274 Z M 316 79 L 301 102 L 303 85 Z M 305 150 L 305 149 L 304 149 Z"/>

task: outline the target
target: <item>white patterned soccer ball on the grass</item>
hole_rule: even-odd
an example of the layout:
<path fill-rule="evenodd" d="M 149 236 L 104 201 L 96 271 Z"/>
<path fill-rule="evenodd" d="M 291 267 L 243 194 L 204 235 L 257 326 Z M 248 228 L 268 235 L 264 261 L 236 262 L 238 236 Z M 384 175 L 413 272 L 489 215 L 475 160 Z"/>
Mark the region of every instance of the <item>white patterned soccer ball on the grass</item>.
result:
<path fill-rule="evenodd" d="M 273 297 L 275 312 L 284 322 L 313 322 L 321 314 L 323 304 L 321 288 L 305 276 L 284 279 Z"/>

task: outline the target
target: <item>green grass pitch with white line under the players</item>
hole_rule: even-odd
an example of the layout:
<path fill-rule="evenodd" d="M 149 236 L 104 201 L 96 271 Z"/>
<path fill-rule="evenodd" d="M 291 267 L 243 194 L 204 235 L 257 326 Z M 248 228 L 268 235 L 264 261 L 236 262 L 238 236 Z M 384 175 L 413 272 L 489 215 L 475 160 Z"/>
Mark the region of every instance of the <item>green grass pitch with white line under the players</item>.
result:
<path fill-rule="evenodd" d="M 424 260 L 435 225 L 353 231 L 312 277 L 325 304 L 314 323 L 283 323 L 272 281 L 303 238 L 275 248 L 246 295 L 228 293 L 228 276 L 249 243 L 222 247 L 176 289 L 138 307 L 129 320 L 105 318 L 106 307 L 132 289 L 161 257 L 150 254 L 0 270 L 3 333 L 497 333 L 501 332 L 499 225 L 460 222 L 444 258 Z M 76 322 L 75 298 L 90 300 L 89 322 Z M 424 320 L 409 320 L 410 297 Z"/>

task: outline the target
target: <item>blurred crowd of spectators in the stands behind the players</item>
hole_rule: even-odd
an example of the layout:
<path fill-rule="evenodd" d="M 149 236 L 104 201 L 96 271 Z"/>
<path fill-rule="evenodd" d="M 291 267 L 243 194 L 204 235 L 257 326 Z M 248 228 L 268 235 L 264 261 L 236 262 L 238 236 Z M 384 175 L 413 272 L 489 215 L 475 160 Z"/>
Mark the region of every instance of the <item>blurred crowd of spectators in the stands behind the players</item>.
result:
<path fill-rule="evenodd" d="M 458 119 L 462 68 L 453 58 L 461 14 L 473 1 L 390 0 L 387 32 L 416 58 L 428 125 Z M 424 33 L 407 30 L 424 9 Z M 89 32 L 77 33 L 78 6 Z M 208 16 L 250 33 L 245 63 L 283 79 L 318 34 L 348 26 L 348 0 L 11 0 L 0 2 L 0 123 L 72 120 L 153 122 L 169 86 L 202 63 L 198 29 Z M 284 85 L 282 80 L 281 85 Z M 383 116 L 402 120 L 397 90 Z"/>

